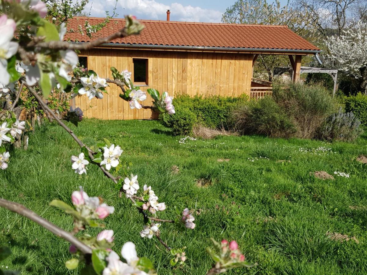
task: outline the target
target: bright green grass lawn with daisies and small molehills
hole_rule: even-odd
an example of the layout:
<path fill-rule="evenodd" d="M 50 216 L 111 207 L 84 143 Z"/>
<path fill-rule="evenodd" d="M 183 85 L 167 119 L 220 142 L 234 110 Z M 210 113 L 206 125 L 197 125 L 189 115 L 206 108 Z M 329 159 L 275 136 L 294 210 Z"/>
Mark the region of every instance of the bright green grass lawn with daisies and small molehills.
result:
<path fill-rule="evenodd" d="M 78 128 L 70 127 L 90 146 L 102 137 L 120 144 L 121 163 L 139 175 L 140 186 L 151 185 L 160 201 L 166 202 L 161 218 L 172 217 L 173 206 L 199 213 L 195 230 L 179 233 L 171 224 L 161 227 L 161 236 L 170 246 L 187 246 L 186 265 L 170 267 L 164 247 L 156 239 L 139 236 L 141 215 L 127 199 L 117 197 L 112 181 L 97 167 L 90 165 L 88 175 L 73 172 L 70 156 L 79 149 L 57 125 L 37 129 L 30 136 L 28 151 L 10 152 L 9 168 L 0 171 L 1 197 L 22 203 L 71 231 L 72 218 L 48 203 L 55 198 L 71 203 L 70 194 L 80 185 L 89 195 L 102 195 L 116 208 L 105 219 L 106 228 L 115 231 L 115 250 L 119 252 L 126 241 L 134 242 L 138 255 L 150 258 L 158 274 L 205 274 L 212 264 L 205 252 L 210 236 L 218 241 L 236 239 L 247 260 L 259 263 L 228 274 L 367 273 L 367 165 L 355 161 L 367 155 L 366 135 L 354 143 L 331 144 L 261 136 L 179 143 L 181 137 L 172 136 L 156 121 L 85 120 Z M 320 146 L 336 153 L 299 151 Z M 177 175 L 171 173 L 173 165 L 179 168 Z M 346 172 L 350 178 L 335 176 L 332 181 L 309 175 L 320 170 L 332 175 Z M 198 186 L 197 180 L 205 184 Z M 0 245 L 13 251 L 1 265 L 21 269 L 22 274 L 78 274 L 65 268 L 71 257 L 67 242 L 7 210 L 0 209 L 0 217 Z M 355 236 L 359 243 L 335 241 L 327 232 Z"/>

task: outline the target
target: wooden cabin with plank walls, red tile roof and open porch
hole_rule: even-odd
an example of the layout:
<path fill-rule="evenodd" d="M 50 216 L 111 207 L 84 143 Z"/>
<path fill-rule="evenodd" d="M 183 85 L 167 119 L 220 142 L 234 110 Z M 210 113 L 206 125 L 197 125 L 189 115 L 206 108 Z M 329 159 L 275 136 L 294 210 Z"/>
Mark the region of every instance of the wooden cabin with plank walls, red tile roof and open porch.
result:
<path fill-rule="evenodd" d="M 78 30 L 86 20 L 91 25 L 103 18 L 76 17 L 68 22 L 69 31 Z M 252 78 L 259 54 L 288 55 L 299 79 L 301 58 L 317 55 L 320 49 L 298 36 L 287 26 L 239 25 L 141 20 L 145 29 L 130 36 L 80 52 L 80 63 L 99 76 L 111 78 L 110 67 L 132 72 L 134 84 L 143 91 L 155 88 L 169 95 L 239 96 L 269 91 L 269 83 Z M 124 19 L 111 19 L 93 38 L 80 32 L 68 32 L 65 40 L 86 43 L 108 36 L 124 27 Z M 295 57 L 293 57 L 295 56 Z M 119 98 L 120 90 L 110 85 L 102 100 L 85 95 L 72 102 L 86 117 L 100 119 L 150 119 L 150 110 L 131 110 Z M 143 104 L 150 105 L 148 98 Z"/>

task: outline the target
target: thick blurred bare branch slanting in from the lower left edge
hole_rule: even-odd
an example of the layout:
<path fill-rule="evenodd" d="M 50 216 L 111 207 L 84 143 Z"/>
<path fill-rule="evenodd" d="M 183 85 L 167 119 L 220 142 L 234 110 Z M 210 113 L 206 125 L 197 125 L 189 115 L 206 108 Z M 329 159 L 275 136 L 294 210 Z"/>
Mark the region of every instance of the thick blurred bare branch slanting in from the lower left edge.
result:
<path fill-rule="evenodd" d="M 73 236 L 69 232 L 62 230 L 57 225 L 50 223 L 50 221 L 44 219 L 43 217 L 29 210 L 24 205 L 21 205 L 20 203 L 17 203 L 17 202 L 12 202 L 12 201 L 8 201 L 6 199 L 0 198 L 0 206 L 34 221 L 35 223 L 46 228 L 48 231 L 54 233 L 55 235 L 59 236 L 60 238 L 63 238 L 65 241 L 68 241 L 72 245 L 75 245 L 84 254 L 92 254 L 92 249 L 89 246 L 79 241 L 77 238 L 75 238 L 75 236 Z"/>

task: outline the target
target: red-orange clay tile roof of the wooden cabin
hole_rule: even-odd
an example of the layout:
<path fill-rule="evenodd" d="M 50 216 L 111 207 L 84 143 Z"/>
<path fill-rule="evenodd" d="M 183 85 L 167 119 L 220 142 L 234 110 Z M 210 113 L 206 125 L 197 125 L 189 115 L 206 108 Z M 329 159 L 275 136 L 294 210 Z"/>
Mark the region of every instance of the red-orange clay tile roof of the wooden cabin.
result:
<path fill-rule="evenodd" d="M 124 19 L 111 19 L 108 25 L 91 39 L 77 32 L 88 19 L 91 25 L 101 23 L 103 18 L 75 17 L 69 19 L 65 40 L 89 42 L 98 37 L 109 36 L 125 25 Z M 213 48 L 248 48 L 319 51 L 320 49 L 298 36 L 287 26 L 240 25 L 224 23 L 196 23 L 178 21 L 139 20 L 145 28 L 140 35 L 119 38 L 114 44 L 190 46 Z M 149 46 L 148 46 L 149 47 Z"/>

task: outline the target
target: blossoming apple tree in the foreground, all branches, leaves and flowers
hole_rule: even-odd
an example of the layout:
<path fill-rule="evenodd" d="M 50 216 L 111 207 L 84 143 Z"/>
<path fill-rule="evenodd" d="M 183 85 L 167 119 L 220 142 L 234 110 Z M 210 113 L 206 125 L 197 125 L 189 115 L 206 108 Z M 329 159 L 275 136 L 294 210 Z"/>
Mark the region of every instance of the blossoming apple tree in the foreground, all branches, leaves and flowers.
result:
<path fill-rule="evenodd" d="M 70 98 L 86 95 L 88 98 L 103 98 L 105 88 L 116 84 L 121 89 L 120 97 L 129 102 L 131 109 L 149 108 L 166 115 L 175 113 L 172 97 L 167 92 L 160 94 L 156 89 L 148 89 L 153 99 L 152 106 L 143 106 L 141 101 L 147 95 L 131 81 L 131 73 L 127 70 L 119 72 L 112 67 L 113 79 L 104 79 L 92 70 L 77 68 L 78 57 L 75 50 L 91 49 L 117 37 L 139 34 L 143 25 L 132 16 L 126 16 L 126 26 L 109 37 L 99 38 L 91 43 L 71 44 L 63 41 L 65 25 L 54 25 L 44 19 L 47 14 L 46 4 L 38 0 L 0 0 L 2 15 L 0 16 L 0 94 L 5 98 L 5 107 L 0 109 L 0 168 L 7 169 L 11 165 L 10 146 L 19 140 L 25 130 L 25 122 L 19 121 L 13 112 L 23 89 L 28 89 L 40 104 L 49 120 L 55 120 L 65 129 L 79 145 L 81 151 L 71 156 L 71 168 L 79 175 L 86 174 L 89 165 L 97 165 L 103 174 L 113 181 L 119 189 L 119 197 L 126 197 L 132 207 L 142 214 L 142 238 L 157 238 L 172 255 L 171 265 L 184 264 L 185 247 L 173 249 L 160 238 L 164 223 L 173 224 L 178 231 L 193 230 L 195 217 L 188 208 L 183 211 L 175 208 L 176 216 L 171 220 L 159 219 L 158 214 L 166 209 L 166 204 L 159 201 L 152 186 L 145 184 L 143 188 L 138 182 L 138 175 L 115 177 L 113 170 L 120 163 L 123 150 L 119 145 L 111 144 L 103 139 L 95 147 L 86 146 L 50 107 L 44 102 L 54 88 L 69 94 Z M 82 121 L 83 111 L 70 109 L 66 120 L 77 124 Z M 106 229 L 97 236 L 75 234 L 87 227 L 103 227 L 101 220 L 113 214 L 115 208 L 106 205 L 100 197 L 90 197 L 82 187 L 71 195 L 72 205 L 59 200 L 50 205 L 62 209 L 74 219 L 74 229 L 66 232 L 24 206 L 0 198 L 0 206 L 21 214 L 35 221 L 47 230 L 70 242 L 69 252 L 72 258 L 66 261 L 68 269 L 75 269 L 83 263 L 83 274 L 152 274 L 154 268 L 148 258 L 139 258 L 132 242 L 126 242 L 120 255 L 112 250 L 114 232 Z M 215 261 L 208 274 L 225 272 L 232 267 L 251 267 L 240 253 L 235 241 L 221 244 L 213 240 L 214 250 L 208 253 Z M 10 251 L 0 247 L 0 260 L 8 257 Z M 3 272 L 0 270 L 0 273 Z"/>

